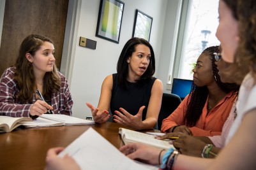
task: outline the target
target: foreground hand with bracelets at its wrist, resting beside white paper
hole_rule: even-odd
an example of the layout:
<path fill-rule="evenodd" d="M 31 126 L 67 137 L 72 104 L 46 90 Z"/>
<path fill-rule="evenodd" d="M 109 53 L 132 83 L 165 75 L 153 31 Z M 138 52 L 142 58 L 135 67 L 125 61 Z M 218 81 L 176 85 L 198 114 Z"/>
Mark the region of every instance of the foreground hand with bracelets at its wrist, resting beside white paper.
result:
<path fill-rule="evenodd" d="M 131 143 L 122 146 L 119 150 L 130 159 L 139 159 L 147 164 L 159 164 L 158 157 L 161 151 L 159 148 L 143 145 L 142 143 Z"/>

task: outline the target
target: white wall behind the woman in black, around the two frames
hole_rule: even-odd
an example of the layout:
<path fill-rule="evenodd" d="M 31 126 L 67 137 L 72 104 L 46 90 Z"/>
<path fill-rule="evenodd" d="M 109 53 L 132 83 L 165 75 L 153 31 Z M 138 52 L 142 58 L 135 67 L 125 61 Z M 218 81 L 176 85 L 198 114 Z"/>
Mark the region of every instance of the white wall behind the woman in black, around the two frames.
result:
<path fill-rule="evenodd" d="M 165 62 L 170 62 L 170 59 L 165 60 L 162 59 L 162 57 L 170 58 L 170 52 L 167 51 L 172 47 L 171 38 L 173 38 L 174 34 L 172 27 L 174 27 L 173 25 L 175 25 L 176 19 L 174 19 L 174 22 L 169 22 L 169 27 L 164 29 L 166 24 L 165 13 L 167 4 L 172 7 L 172 10 L 174 10 L 173 13 L 175 13 L 177 11 L 177 3 L 174 1 L 175 7 L 170 5 L 172 1 L 167 0 L 123 0 L 123 2 L 124 13 L 119 44 L 95 36 L 100 0 L 82 0 L 79 6 L 79 25 L 77 36 L 74 38 L 76 39 L 76 46 L 73 70 L 72 75 L 69 76 L 71 78 L 71 80 L 69 80 L 70 90 L 74 101 L 72 110 L 73 116 L 75 117 L 84 118 L 91 115 L 90 110 L 86 106 L 86 102 L 94 106 L 98 105 L 102 81 L 107 75 L 116 73 L 116 63 L 119 54 L 126 41 L 132 38 L 136 9 L 153 17 L 150 43 L 156 55 L 155 76 L 158 77 L 158 72 L 163 73 L 166 71 L 166 74 L 169 72 L 169 63 Z M 176 14 L 173 13 L 170 13 L 170 15 L 176 16 Z M 172 19 L 172 17 L 167 18 L 169 20 L 169 18 Z M 163 32 L 165 32 L 165 34 L 163 34 Z M 97 41 L 96 50 L 79 46 L 80 36 Z M 165 36 L 165 38 L 163 38 L 163 36 Z M 162 41 L 162 39 L 165 41 Z M 169 40 L 171 43 L 167 43 Z M 162 42 L 165 43 L 164 47 L 162 47 Z M 167 67 L 163 69 L 160 62 L 167 65 Z M 165 85 L 167 83 L 167 77 L 162 81 Z"/>

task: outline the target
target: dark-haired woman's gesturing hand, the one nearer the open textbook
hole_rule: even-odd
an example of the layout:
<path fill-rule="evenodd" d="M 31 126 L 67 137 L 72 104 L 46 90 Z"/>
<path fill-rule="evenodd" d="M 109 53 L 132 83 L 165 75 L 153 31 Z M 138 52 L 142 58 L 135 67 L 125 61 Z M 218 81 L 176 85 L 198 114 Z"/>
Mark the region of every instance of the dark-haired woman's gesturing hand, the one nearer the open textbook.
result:
<path fill-rule="evenodd" d="M 143 122 L 142 122 L 142 112 L 144 110 L 145 106 L 141 106 L 139 109 L 139 112 L 137 115 L 133 116 L 128 111 L 124 110 L 123 108 L 120 108 L 120 111 L 115 111 L 115 113 L 118 115 L 114 115 L 114 121 L 118 124 L 125 125 L 127 127 L 132 127 L 133 129 L 143 129 Z"/>

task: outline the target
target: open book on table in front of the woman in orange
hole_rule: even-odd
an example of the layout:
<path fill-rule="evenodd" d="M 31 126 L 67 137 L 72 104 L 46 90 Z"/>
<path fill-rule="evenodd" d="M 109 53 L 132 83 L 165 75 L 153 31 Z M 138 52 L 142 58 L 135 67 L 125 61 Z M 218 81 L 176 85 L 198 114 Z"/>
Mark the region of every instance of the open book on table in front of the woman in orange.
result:
<path fill-rule="evenodd" d="M 145 145 L 154 146 L 156 148 L 169 149 L 174 148 L 169 141 L 155 139 L 153 135 L 142 132 L 132 131 L 129 129 L 119 128 L 119 134 L 125 145 L 128 143 L 144 143 Z"/>

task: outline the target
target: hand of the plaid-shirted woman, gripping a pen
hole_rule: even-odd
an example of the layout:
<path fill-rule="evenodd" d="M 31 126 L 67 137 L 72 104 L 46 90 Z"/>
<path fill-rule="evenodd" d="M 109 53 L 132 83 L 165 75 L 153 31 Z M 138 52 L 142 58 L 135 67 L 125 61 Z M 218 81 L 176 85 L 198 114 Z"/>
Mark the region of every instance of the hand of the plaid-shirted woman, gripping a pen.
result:
<path fill-rule="evenodd" d="M 32 106 L 30 107 L 29 114 L 31 116 L 41 116 L 43 113 L 47 113 L 48 110 L 52 110 L 52 106 L 47 104 L 45 101 L 37 100 Z"/>

